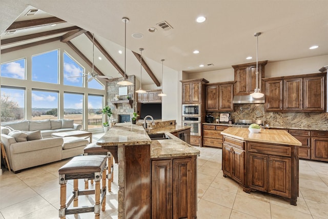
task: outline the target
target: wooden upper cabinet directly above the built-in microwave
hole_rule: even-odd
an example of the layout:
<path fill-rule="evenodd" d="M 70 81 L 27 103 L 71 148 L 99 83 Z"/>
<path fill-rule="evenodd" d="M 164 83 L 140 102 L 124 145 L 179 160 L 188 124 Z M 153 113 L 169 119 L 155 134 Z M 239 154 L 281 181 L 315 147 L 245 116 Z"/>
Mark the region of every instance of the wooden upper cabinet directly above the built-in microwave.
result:
<path fill-rule="evenodd" d="M 207 79 L 189 79 L 182 83 L 182 104 L 201 104 L 204 101 L 204 86 Z"/>

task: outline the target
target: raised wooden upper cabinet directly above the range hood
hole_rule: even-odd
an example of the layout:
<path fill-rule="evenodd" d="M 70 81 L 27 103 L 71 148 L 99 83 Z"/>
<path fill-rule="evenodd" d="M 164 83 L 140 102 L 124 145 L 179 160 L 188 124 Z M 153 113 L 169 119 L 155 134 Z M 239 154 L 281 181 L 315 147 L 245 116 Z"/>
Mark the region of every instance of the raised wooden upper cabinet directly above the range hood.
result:
<path fill-rule="evenodd" d="M 261 78 L 264 77 L 264 66 L 268 61 L 258 62 L 258 87 L 261 89 Z M 249 95 L 256 88 L 256 63 L 232 66 L 235 70 L 234 95 Z M 261 89 L 262 90 L 262 89 Z"/>

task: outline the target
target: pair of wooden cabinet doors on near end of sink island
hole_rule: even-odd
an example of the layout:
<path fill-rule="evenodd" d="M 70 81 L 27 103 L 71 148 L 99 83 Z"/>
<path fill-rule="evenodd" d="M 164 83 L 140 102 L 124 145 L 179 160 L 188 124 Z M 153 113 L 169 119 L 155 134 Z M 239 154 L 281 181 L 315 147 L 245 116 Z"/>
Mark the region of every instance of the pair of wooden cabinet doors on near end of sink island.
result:
<path fill-rule="evenodd" d="M 197 218 L 196 156 L 152 160 L 152 218 Z"/>

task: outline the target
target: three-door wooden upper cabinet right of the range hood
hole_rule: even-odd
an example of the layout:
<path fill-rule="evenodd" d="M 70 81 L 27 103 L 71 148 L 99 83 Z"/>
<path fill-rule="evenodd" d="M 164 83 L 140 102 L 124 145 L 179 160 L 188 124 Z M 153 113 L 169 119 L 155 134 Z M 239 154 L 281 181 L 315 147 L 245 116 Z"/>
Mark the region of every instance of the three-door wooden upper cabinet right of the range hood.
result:
<path fill-rule="evenodd" d="M 265 111 L 325 112 L 326 73 L 264 78 Z"/>

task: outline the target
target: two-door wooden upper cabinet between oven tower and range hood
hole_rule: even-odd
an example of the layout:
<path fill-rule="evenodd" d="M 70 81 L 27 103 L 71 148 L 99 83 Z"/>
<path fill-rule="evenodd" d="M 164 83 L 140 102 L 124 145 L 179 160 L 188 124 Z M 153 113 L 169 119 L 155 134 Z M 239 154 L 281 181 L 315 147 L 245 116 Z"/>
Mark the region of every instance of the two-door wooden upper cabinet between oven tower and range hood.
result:
<path fill-rule="evenodd" d="M 233 87 L 234 82 L 206 85 L 206 111 L 234 111 Z"/>

